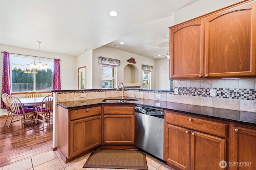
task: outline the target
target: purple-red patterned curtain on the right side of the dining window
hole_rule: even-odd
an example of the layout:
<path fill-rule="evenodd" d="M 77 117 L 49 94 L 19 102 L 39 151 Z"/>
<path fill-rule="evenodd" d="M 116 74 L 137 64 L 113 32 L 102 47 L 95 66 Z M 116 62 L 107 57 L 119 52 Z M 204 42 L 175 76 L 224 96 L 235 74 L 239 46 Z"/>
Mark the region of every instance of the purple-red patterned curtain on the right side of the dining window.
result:
<path fill-rule="evenodd" d="M 53 59 L 52 89 L 60 90 L 60 59 Z"/>

